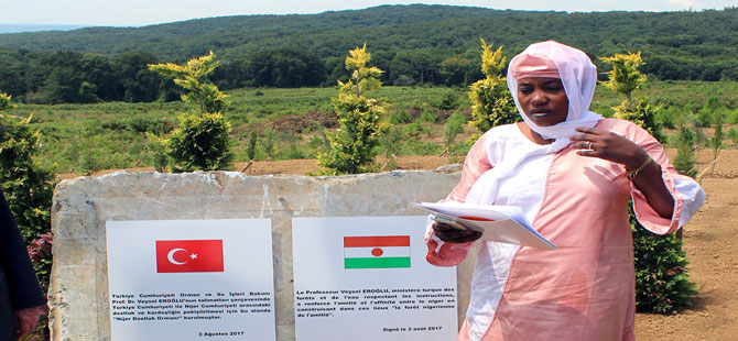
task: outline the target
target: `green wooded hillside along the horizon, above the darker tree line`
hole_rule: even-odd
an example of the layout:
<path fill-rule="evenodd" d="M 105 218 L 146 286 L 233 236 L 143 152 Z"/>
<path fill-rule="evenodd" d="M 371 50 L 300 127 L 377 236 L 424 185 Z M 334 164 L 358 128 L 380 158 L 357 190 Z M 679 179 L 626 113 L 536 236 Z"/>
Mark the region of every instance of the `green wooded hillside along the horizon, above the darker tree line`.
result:
<path fill-rule="evenodd" d="M 592 55 L 643 50 L 645 54 L 735 62 L 736 33 L 738 8 L 702 12 L 565 13 L 412 4 L 321 14 L 209 18 L 143 28 L 0 34 L 0 46 L 106 55 L 149 51 L 165 61 L 183 61 L 209 50 L 232 59 L 291 45 L 326 58 L 344 55 L 365 41 L 373 50 L 464 53 L 476 51 L 478 37 L 484 36 L 508 46 L 510 54 L 531 42 L 553 38 L 579 46 Z"/>

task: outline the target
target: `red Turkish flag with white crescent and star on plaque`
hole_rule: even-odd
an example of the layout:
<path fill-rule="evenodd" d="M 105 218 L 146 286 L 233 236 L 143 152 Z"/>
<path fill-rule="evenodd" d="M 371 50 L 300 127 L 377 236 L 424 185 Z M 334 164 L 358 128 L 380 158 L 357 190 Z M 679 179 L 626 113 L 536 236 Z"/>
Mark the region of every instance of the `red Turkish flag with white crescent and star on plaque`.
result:
<path fill-rule="evenodd" d="M 223 240 L 156 241 L 156 272 L 223 272 Z"/>

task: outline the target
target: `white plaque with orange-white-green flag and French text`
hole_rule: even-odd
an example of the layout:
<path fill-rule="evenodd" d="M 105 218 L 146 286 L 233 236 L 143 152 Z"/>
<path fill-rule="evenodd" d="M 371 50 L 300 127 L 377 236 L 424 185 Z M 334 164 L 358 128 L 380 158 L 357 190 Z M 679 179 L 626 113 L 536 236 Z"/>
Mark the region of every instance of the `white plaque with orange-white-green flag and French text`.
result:
<path fill-rule="evenodd" d="M 425 261 L 426 219 L 293 218 L 296 340 L 454 340 L 456 267 Z"/>

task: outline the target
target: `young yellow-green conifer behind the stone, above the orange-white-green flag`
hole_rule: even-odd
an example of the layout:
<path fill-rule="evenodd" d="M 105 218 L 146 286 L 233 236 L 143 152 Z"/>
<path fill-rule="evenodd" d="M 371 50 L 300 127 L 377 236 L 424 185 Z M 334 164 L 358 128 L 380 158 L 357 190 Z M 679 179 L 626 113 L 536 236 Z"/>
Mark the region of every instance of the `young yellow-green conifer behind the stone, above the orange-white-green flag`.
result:
<path fill-rule="evenodd" d="M 318 165 L 326 168 L 326 174 L 371 170 L 377 156 L 375 146 L 389 127 L 380 120 L 386 110 L 384 105 L 365 96 L 367 91 L 381 86 L 378 78 L 382 70 L 368 67 L 370 59 L 367 44 L 349 51 L 346 57 L 346 68 L 351 72 L 351 78 L 347 82 L 338 81 L 338 98 L 332 99 L 339 128 L 328 134 L 330 150 L 318 155 Z"/>

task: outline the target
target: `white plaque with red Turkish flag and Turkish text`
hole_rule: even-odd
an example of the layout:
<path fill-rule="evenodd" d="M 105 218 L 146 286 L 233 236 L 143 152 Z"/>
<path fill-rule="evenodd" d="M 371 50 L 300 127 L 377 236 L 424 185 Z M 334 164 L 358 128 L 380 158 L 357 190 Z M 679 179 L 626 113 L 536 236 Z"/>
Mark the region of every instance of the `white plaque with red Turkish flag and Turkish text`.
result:
<path fill-rule="evenodd" d="M 110 337 L 274 340 L 269 219 L 107 221 Z"/>

